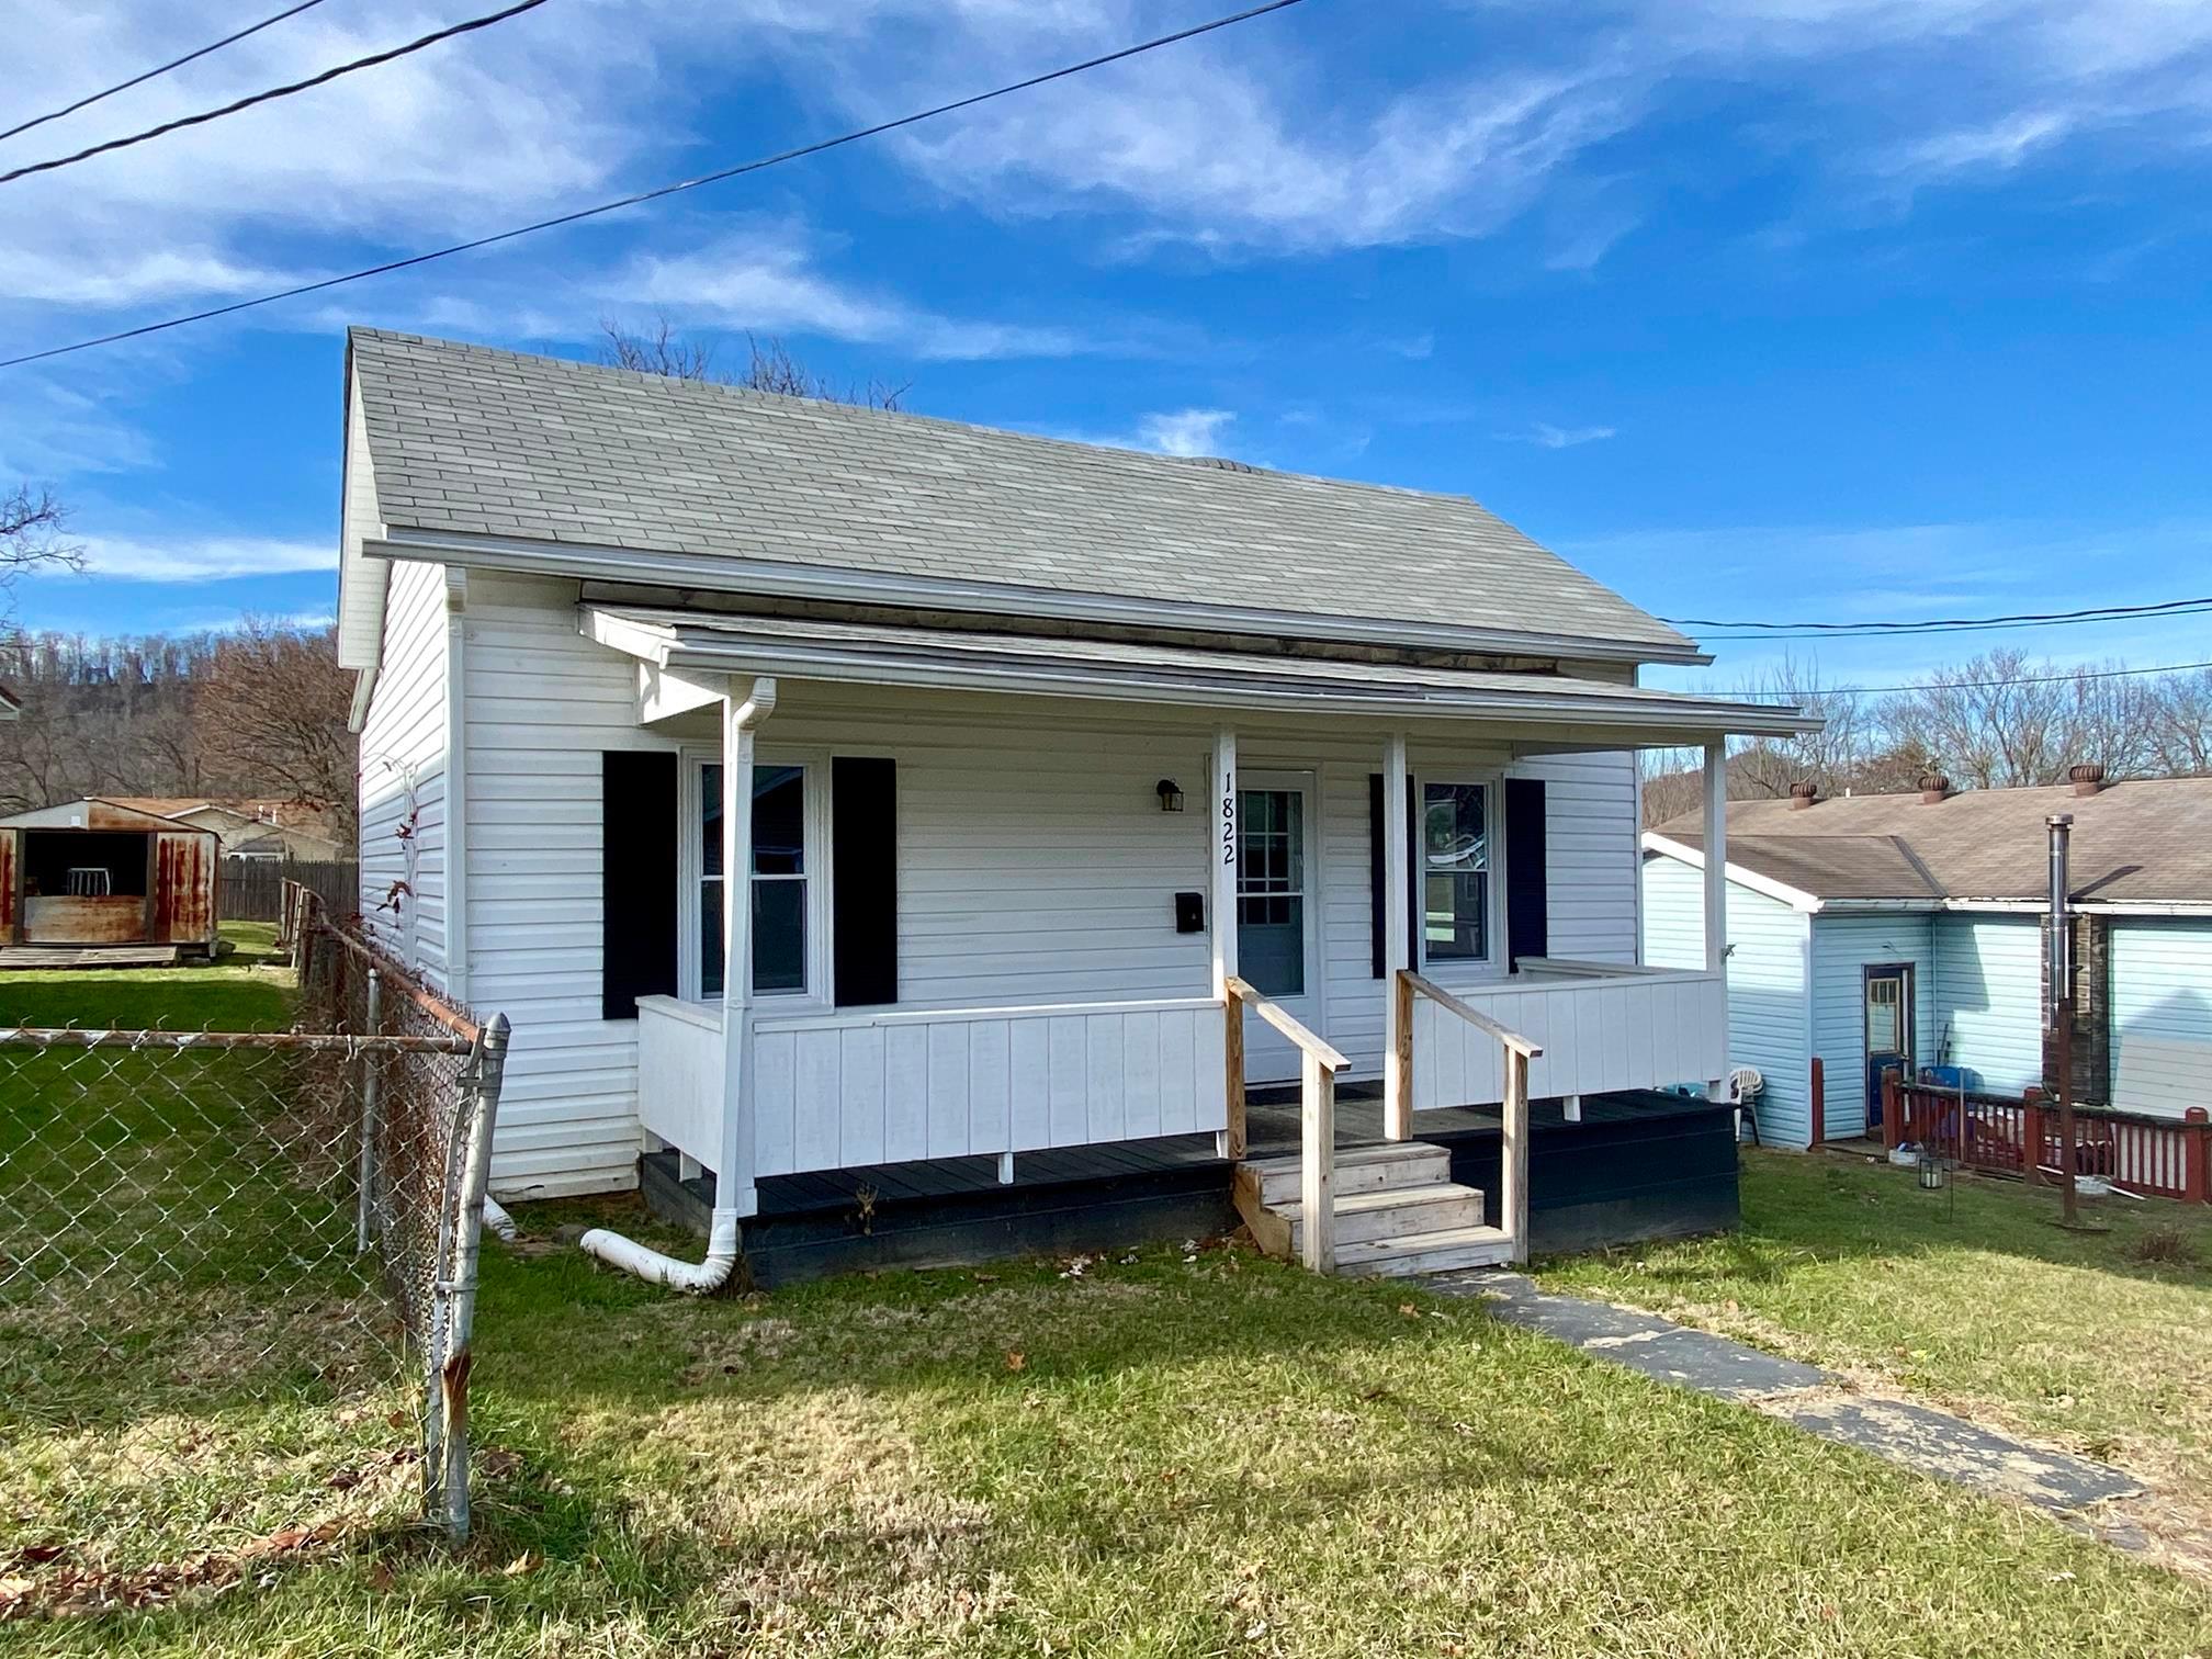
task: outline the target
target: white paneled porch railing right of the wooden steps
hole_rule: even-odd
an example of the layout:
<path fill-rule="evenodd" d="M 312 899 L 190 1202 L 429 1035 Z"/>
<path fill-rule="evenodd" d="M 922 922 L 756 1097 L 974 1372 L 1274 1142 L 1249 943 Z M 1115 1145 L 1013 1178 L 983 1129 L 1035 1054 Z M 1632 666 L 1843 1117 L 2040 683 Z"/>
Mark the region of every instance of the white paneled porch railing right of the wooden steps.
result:
<path fill-rule="evenodd" d="M 1528 1093 L 1599 1095 L 1719 1077 L 1728 1064 L 1728 984 L 1719 973 L 1524 958 L 1495 984 L 1451 995 L 1544 1053 Z M 1433 998 L 1411 1018 L 1413 1110 L 1495 1106 L 1506 1097 L 1498 1042 Z"/>

